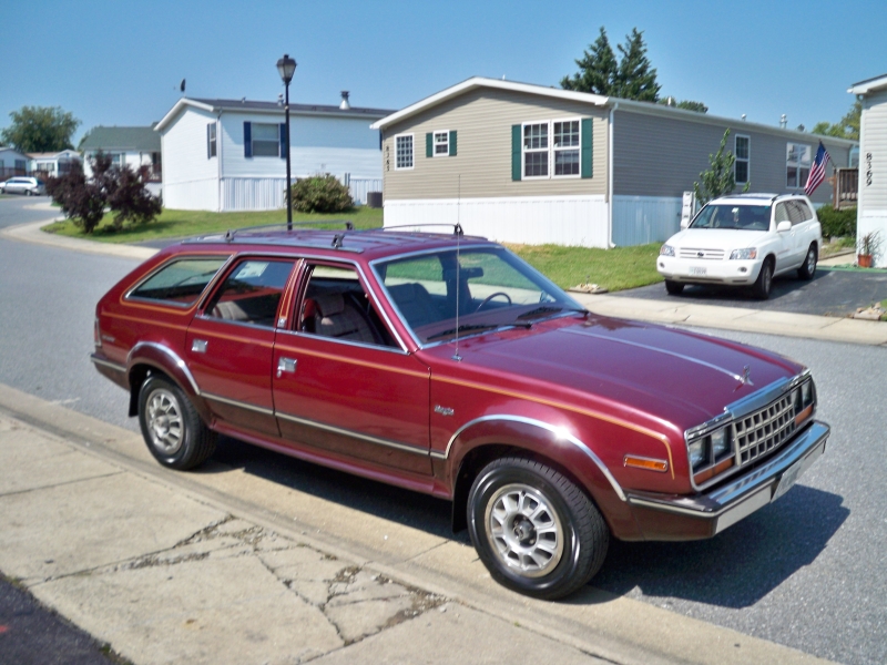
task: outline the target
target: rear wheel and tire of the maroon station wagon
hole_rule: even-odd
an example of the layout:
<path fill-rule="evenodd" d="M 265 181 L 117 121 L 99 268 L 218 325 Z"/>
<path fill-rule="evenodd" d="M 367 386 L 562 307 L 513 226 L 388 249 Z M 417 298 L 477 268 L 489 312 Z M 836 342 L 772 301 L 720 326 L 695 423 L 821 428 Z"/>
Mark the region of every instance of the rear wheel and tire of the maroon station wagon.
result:
<path fill-rule="evenodd" d="M 217 434 L 204 424 L 179 386 L 151 376 L 139 391 L 139 424 L 147 449 L 164 467 L 184 471 L 205 462 Z"/>

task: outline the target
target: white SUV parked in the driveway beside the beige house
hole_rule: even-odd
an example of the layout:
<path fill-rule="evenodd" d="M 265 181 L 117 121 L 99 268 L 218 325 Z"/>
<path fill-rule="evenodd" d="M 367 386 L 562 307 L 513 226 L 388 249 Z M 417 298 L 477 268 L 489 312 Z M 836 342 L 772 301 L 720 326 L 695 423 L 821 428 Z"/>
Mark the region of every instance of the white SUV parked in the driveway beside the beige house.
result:
<path fill-rule="evenodd" d="M 669 238 L 656 268 L 672 295 L 686 284 L 751 286 L 765 300 L 775 275 L 797 270 L 813 279 L 822 245 L 822 226 L 806 196 L 722 196 Z"/>

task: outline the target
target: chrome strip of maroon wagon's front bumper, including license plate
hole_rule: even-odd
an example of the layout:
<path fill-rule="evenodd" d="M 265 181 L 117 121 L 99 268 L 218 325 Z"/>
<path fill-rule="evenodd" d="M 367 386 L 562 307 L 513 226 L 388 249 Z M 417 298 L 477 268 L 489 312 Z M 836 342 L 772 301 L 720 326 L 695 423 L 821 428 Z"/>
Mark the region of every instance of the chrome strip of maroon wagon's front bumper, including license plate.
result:
<path fill-rule="evenodd" d="M 642 508 L 716 521 L 718 533 L 774 500 L 783 474 L 801 463 L 801 477 L 825 452 L 830 428 L 814 421 L 805 431 L 765 464 L 730 481 L 724 487 L 695 497 L 625 492 L 629 503 Z"/>

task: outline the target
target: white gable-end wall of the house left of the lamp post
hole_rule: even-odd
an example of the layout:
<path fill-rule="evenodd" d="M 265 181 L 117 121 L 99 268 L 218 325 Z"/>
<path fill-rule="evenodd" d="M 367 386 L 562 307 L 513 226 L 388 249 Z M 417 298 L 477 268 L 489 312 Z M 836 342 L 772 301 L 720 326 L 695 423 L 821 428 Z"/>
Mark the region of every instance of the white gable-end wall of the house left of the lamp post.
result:
<path fill-rule="evenodd" d="M 163 205 L 184 211 L 218 209 L 218 158 L 206 156 L 212 113 L 187 108 L 163 132 Z"/>

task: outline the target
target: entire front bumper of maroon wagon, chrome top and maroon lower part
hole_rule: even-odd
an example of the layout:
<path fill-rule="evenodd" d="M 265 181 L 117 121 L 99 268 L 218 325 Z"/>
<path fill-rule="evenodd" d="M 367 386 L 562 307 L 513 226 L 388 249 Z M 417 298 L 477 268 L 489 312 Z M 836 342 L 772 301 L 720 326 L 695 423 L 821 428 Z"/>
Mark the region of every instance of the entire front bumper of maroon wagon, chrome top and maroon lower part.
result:
<path fill-rule="evenodd" d="M 830 429 L 814 421 L 776 457 L 693 497 L 625 492 L 645 540 L 711 538 L 777 500 L 825 452 Z"/>

